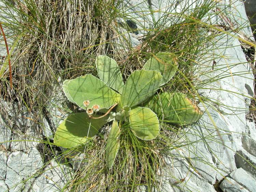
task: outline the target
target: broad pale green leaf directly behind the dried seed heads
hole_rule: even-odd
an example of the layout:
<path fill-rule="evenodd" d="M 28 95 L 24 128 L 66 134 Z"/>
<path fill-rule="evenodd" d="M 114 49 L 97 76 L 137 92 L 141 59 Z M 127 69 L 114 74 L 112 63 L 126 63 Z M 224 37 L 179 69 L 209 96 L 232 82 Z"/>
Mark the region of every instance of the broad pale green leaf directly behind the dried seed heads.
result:
<path fill-rule="evenodd" d="M 97 104 L 100 109 L 109 108 L 120 101 L 120 94 L 91 74 L 66 80 L 64 83 L 62 87 L 67 98 L 84 109 L 86 107 L 83 102 L 87 100 L 90 102 L 88 108 Z"/>

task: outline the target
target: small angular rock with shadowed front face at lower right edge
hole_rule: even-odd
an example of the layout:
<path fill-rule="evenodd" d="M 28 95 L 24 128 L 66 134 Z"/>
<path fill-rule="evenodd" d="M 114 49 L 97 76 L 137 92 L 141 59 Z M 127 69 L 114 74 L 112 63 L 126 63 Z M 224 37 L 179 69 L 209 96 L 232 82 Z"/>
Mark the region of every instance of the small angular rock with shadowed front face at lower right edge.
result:
<path fill-rule="evenodd" d="M 235 159 L 236 166 L 238 168 L 243 168 L 246 172 L 250 173 L 254 177 L 254 179 L 256 179 L 256 157 L 252 156 L 250 153 L 242 148 L 236 153 Z"/>

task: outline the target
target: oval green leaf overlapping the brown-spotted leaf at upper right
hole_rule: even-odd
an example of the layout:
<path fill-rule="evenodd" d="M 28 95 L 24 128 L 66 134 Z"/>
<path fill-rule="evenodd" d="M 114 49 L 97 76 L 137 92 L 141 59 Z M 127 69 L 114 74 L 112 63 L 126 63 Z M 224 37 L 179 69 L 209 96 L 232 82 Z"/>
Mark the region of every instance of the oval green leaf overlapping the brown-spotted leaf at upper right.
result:
<path fill-rule="evenodd" d="M 162 75 L 157 71 L 137 70 L 127 79 L 123 94 L 122 106 L 134 107 L 150 98 L 161 85 Z"/>

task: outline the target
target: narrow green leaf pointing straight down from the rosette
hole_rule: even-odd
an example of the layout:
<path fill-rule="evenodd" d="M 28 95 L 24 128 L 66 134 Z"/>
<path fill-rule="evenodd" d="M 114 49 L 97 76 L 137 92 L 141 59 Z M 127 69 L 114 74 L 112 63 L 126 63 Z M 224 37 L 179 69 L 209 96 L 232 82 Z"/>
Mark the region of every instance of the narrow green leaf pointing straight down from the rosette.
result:
<path fill-rule="evenodd" d="M 114 120 L 106 143 L 106 163 L 109 169 L 112 167 L 120 147 L 119 135 L 120 129 L 117 121 Z"/>

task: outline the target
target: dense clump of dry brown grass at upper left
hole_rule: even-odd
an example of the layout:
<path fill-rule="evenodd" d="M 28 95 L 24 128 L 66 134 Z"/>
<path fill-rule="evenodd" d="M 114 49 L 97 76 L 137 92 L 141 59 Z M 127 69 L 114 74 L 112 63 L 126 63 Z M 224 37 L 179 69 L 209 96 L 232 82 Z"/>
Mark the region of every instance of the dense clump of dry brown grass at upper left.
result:
<path fill-rule="evenodd" d="M 20 1 L 6 11 L 14 23 L 4 23 L 9 38 L 27 30 L 12 56 L 13 90 L 9 71 L 0 81 L 1 95 L 38 110 L 61 79 L 94 71 L 95 56 L 114 50 L 115 21 L 111 1 Z M 11 36 L 11 33 L 14 34 Z"/>

